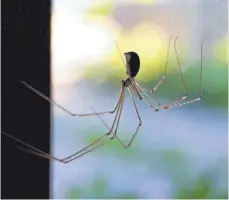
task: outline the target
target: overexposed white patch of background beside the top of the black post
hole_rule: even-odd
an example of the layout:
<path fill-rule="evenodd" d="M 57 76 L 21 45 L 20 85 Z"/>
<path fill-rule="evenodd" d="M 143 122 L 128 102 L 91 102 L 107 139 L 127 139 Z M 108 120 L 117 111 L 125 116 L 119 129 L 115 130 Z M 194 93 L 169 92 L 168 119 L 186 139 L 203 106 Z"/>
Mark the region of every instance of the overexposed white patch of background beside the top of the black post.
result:
<path fill-rule="evenodd" d="M 83 22 L 82 14 L 91 0 L 67 2 L 63 0 L 53 2 L 53 85 L 69 84 L 80 79 L 80 68 L 82 69 L 88 62 L 99 59 L 112 45 L 109 31 L 105 27 Z M 73 67 L 78 68 L 77 74 L 71 73 Z"/>

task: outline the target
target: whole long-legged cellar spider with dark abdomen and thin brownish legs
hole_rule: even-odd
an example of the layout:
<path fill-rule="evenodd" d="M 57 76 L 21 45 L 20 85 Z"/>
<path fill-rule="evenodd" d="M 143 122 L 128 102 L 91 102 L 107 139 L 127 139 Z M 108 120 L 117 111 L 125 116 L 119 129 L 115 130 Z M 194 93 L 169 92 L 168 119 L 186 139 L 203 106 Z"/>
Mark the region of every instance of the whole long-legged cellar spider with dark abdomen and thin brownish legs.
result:
<path fill-rule="evenodd" d="M 29 85 L 28 83 L 24 82 L 24 81 L 20 81 L 25 87 L 27 87 L 28 89 L 30 89 L 31 91 L 33 91 L 34 93 L 36 93 L 37 95 L 41 96 L 43 99 L 45 99 L 46 101 L 48 101 L 49 103 L 57 106 L 59 109 L 63 110 L 64 112 L 68 113 L 71 116 L 78 116 L 78 117 L 82 117 L 82 116 L 93 116 L 93 115 L 97 115 L 101 122 L 106 126 L 106 128 L 108 129 L 108 132 L 105 133 L 104 135 L 102 135 L 101 137 L 99 137 L 98 139 L 96 139 L 94 142 L 92 142 L 91 144 L 87 145 L 86 147 L 82 148 L 81 150 L 65 157 L 65 158 L 57 158 L 55 156 L 52 156 L 50 154 L 47 154 L 43 151 L 41 151 L 38 148 L 35 148 L 34 146 L 31 146 L 15 137 L 13 137 L 12 135 L 9 135 L 8 133 L 2 131 L 2 133 L 4 135 L 6 135 L 7 137 L 10 137 L 11 139 L 16 140 L 17 142 L 29 147 L 30 149 L 22 149 L 26 152 L 29 152 L 31 154 L 46 158 L 46 159 L 52 159 L 52 160 L 56 160 L 62 163 L 69 163 L 73 160 L 75 160 L 76 158 L 79 158 L 91 151 L 93 151 L 94 149 L 112 141 L 113 139 L 117 139 L 125 148 L 129 148 L 131 146 L 131 144 L 133 143 L 141 125 L 142 125 L 142 120 L 135 102 L 135 98 L 132 94 L 133 90 L 139 97 L 140 100 L 144 100 L 153 111 L 159 111 L 160 109 L 170 109 L 170 108 L 174 108 L 177 106 L 182 106 L 185 104 L 190 104 L 190 103 L 194 103 L 196 101 L 199 101 L 202 99 L 202 71 L 203 71 L 203 66 L 202 66 L 202 55 L 203 55 L 203 43 L 204 41 L 202 41 L 201 43 L 201 58 L 200 58 L 200 86 L 199 86 L 199 97 L 195 98 L 195 99 L 191 99 L 191 100 L 186 100 L 187 98 L 187 88 L 186 88 L 186 84 L 184 81 L 184 76 L 183 76 L 183 72 L 181 69 L 181 64 L 180 64 L 180 60 L 179 60 L 179 56 L 178 56 L 178 52 L 177 52 L 177 48 L 176 48 L 176 41 L 177 41 L 177 37 L 174 40 L 174 50 L 175 50 L 175 55 L 176 55 L 176 59 L 177 59 L 177 65 L 178 65 L 178 69 L 180 72 L 180 76 L 181 76 L 181 80 L 182 80 L 182 86 L 184 89 L 184 95 L 171 102 L 168 103 L 166 105 L 162 105 L 160 104 L 155 98 L 151 97 L 150 94 L 156 92 L 156 90 L 159 88 L 159 86 L 164 83 L 166 77 L 167 77 L 167 65 L 168 65 L 168 57 L 169 57 L 169 51 L 170 51 L 170 45 L 171 45 L 171 37 L 169 39 L 168 42 L 168 48 L 167 48 L 167 53 L 166 53 L 166 59 L 165 59 L 165 66 L 164 66 L 164 73 L 163 76 L 159 79 L 159 81 L 157 82 L 156 86 L 153 87 L 153 89 L 146 89 L 143 86 L 141 86 L 139 84 L 139 82 L 136 80 L 136 75 L 139 72 L 140 69 L 140 58 L 138 56 L 138 54 L 136 52 L 126 52 L 124 53 L 125 56 L 125 61 L 122 58 L 121 52 L 118 48 L 118 45 L 116 44 L 117 50 L 119 52 L 119 55 L 122 59 L 122 62 L 126 68 L 126 74 L 127 74 L 127 78 L 125 80 L 121 81 L 121 92 L 118 98 L 118 101 L 114 107 L 113 110 L 111 111 L 104 111 L 104 112 L 96 112 L 93 109 L 93 113 L 82 113 L 82 114 L 76 114 L 73 113 L 69 110 L 67 110 L 66 108 L 62 107 L 61 105 L 59 105 L 58 103 L 56 103 L 55 101 L 53 101 L 52 99 L 50 99 L 49 97 L 45 96 L 43 93 L 41 93 L 40 91 L 38 91 L 37 89 L 35 89 L 34 87 L 32 87 L 31 85 Z M 124 104 L 124 100 L 125 100 L 125 90 L 127 90 L 128 94 L 130 95 L 130 98 L 132 100 L 132 103 L 134 105 L 134 109 L 136 112 L 136 115 L 138 117 L 138 126 L 132 136 L 132 138 L 130 139 L 128 144 L 124 144 L 124 142 L 117 136 L 117 131 L 118 131 L 118 127 L 119 127 L 119 122 L 120 122 L 120 118 L 121 118 L 121 114 L 122 114 L 122 110 L 123 110 L 123 104 Z M 150 100 L 148 100 L 146 97 L 148 97 Z M 157 104 L 157 107 L 155 107 L 152 102 Z M 114 114 L 115 113 L 115 117 L 114 117 L 114 121 L 111 125 L 111 128 L 109 128 L 109 126 L 104 122 L 104 120 L 101 118 L 100 115 L 104 115 L 104 114 Z"/>

